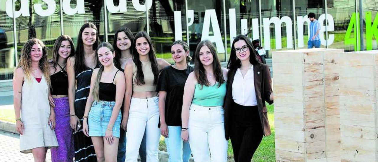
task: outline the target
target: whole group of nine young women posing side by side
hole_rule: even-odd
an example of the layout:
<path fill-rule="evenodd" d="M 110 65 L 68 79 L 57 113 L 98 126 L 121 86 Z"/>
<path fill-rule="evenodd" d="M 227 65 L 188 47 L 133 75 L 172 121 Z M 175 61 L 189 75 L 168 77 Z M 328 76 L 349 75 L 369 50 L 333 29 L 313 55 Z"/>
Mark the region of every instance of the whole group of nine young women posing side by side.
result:
<path fill-rule="evenodd" d="M 39 39 L 23 46 L 15 69 L 14 108 L 20 151 L 53 162 L 158 161 L 160 135 L 169 162 L 226 162 L 231 139 L 236 162 L 251 161 L 270 134 L 265 101 L 273 103 L 270 70 L 248 37 L 235 37 L 228 69 L 210 41 L 175 41 L 170 65 L 156 58 L 145 31 L 125 27 L 113 45 L 100 43 L 85 23 L 77 46 L 57 38 L 53 57 Z"/>

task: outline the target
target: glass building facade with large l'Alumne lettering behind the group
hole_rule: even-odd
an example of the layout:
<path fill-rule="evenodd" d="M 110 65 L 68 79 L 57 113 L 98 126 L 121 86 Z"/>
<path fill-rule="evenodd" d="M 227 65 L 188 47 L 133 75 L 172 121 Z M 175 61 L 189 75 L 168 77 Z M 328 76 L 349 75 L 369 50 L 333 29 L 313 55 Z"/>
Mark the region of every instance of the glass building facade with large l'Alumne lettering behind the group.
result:
<path fill-rule="evenodd" d="M 222 62 L 238 34 L 260 39 L 268 58 L 272 51 L 307 48 L 309 12 L 321 23 L 322 48 L 373 50 L 376 6 L 378 0 L 0 0 L 0 81 L 12 79 L 28 39 L 41 39 L 51 55 L 61 34 L 76 43 L 84 22 L 94 23 L 101 41 L 111 43 L 121 26 L 134 34 L 147 31 L 157 57 L 171 63 L 175 40 L 188 42 L 193 55 L 209 39 Z"/>

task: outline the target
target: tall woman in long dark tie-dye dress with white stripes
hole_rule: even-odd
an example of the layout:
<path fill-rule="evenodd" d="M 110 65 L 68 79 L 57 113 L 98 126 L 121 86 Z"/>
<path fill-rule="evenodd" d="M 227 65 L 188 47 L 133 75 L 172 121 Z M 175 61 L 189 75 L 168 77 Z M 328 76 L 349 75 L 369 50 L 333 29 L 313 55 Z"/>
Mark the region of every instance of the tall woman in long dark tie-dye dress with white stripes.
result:
<path fill-rule="evenodd" d="M 93 23 L 85 23 L 77 37 L 75 56 L 68 58 L 68 98 L 70 101 L 70 125 L 76 130 L 77 123 L 82 123 L 85 103 L 89 94 L 93 69 L 98 67 L 95 50 L 100 40 L 99 33 Z M 76 91 L 75 91 L 76 81 Z M 96 162 L 95 148 L 92 140 L 82 132 L 82 128 L 74 131 L 75 161 Z"/>

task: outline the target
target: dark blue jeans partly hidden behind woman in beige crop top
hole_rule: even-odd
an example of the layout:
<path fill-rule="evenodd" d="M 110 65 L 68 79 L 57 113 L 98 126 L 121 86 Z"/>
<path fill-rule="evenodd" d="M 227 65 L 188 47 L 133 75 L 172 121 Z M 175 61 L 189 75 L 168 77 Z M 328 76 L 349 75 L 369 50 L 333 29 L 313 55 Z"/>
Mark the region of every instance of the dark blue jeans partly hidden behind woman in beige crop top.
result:
<path fill-rule="evenodd" d="M 125 161 L 125 153 L 126 153 L 126 131 L 124 131 L 121 128 L 121 136 L 119 137 L 119 144 L 118 144 L 117 162 Z M 141 146 L 139 148 L 139 156 L 141 157 L 141 162 L 146 162 L 146 157 L 147 157 L 146 132 L 144 132 Z"/>

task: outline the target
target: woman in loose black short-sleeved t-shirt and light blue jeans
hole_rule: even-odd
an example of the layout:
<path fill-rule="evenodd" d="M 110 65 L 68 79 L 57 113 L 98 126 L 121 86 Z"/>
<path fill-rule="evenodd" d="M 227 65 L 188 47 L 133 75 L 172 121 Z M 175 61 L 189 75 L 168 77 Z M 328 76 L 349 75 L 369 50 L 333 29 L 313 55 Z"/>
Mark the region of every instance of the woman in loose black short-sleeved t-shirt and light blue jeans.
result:
<path fill-rule="evenodd" d="M 169 162 L 189 162 L 192 154 L 189 142 L 181 139 L 181 108 L 185 81 L 193 67 L 188 63 L 189 46 L 184 41 L 175 41 L 171 45 L 174 65 L 165 67 L 159 77 L 156 91 L 159 92 L 160 131 L 165 137 Z"/>

